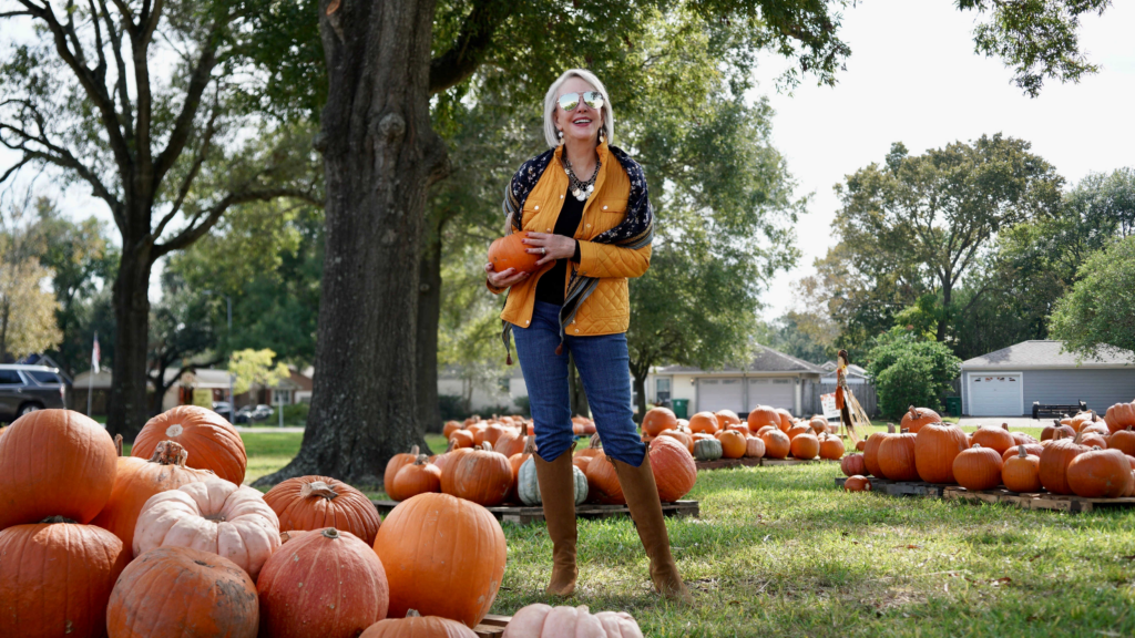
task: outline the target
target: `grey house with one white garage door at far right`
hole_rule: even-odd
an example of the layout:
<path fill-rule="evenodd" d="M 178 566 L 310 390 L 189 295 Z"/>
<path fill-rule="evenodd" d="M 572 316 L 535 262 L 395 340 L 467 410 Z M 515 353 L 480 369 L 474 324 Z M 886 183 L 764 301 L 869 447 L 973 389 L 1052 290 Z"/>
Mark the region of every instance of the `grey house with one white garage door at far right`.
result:
<path fill-rule="evenodd" d="M 961 363 L 961 412 L 1032 415 L 1033 402 L 1076 404 L 1102 414 L 1135 396 L 1135 353 L 1107 349 L 1078 360 L 1058 341 L 1027 341 Z"/>

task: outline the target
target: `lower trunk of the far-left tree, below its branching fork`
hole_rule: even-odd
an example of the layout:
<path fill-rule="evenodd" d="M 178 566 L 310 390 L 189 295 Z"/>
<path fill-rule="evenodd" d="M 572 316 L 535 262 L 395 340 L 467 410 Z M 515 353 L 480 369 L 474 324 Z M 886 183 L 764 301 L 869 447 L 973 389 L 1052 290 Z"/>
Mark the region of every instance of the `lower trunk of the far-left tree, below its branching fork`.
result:
<path fill-rule="evenodd" d="M 114 286 L 115 360 L 107 430 L 111 436 L 123 435 L 128 442 L 134 440 L 149 419 L 145 360 L 150 336 L 150 266 L 149 251 L 123 251 Z"/>

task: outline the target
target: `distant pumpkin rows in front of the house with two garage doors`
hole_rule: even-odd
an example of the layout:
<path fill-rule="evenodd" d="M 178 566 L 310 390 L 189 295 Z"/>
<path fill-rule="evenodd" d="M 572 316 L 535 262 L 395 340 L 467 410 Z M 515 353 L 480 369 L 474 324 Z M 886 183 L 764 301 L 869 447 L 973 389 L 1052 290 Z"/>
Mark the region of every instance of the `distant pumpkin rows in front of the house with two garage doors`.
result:
<path fill-rule="evenodd" d="M 823 417 L 794 419 L 784 409 L 758 405 L 742 423 L 737 412 L 698 412 L 688 421 L 667 408 L 654 408 L 642 419 L 642 440 L 662 437 L 682 443 L 697 461 L 767 456 L 831 459 L 843 456 L 843 442 L 829 431 Z"/>

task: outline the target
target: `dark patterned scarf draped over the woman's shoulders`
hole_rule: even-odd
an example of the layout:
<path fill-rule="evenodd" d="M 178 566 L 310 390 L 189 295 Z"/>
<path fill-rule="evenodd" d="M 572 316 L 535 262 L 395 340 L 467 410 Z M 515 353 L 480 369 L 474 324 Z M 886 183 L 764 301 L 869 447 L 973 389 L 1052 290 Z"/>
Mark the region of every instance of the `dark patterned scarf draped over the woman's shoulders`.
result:
<path fill-rule="evenodd" d="M 654 207 L 646 188 L 646 176 L 642 167 L 630 158 L 622 149 L 607 146 L 611 154 L 619 160 L 619 163 L 627 171 L 631 182 L 631 192 L 627 198 L 627 217 L 614 228 L 600 233 L 592 242 L 599 244 L 612 244 L 629 250 L 638 250 L 649 245 L 654 240 Z M 555 149 L 540 153 L 521 165 L 520 169 L 512 177 L 504 193 L 504 213 L 511 216 L 512 229 L 523 230 L 522 211 L 524 201 L 540 181 L 548 163 L 555 158 Z M 564 304 L 560 309 L 560 345 L 556 346 L 556 354 L 563 354 L 564 338 L 568 325 L 575 319 L 575 312 L 583 301 L 595 292 L 599 284 L 598 277 L 585 277 L 579 274 L 579 269 L 572 269 L 571 278 L 568 282 L 568 292 L 564 295 Z M 507 296 L 505 297 L 507 303 Z M 504 330 L 501 339 L 504 342 L 506 362 L 512 366 L 512 346 L 510 336 L 512 335 L 512 324 L 503 321 Z"/>

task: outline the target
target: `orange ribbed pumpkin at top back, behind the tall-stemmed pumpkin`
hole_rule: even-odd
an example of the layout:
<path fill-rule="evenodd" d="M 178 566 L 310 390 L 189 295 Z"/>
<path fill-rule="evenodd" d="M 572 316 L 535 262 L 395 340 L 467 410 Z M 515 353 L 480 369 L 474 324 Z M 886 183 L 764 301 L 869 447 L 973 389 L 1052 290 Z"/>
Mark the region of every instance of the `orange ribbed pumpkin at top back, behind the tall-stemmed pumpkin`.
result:
<path fill-rule="evenodd" d="M 185 464 L 212 470 L 218 477 L 241 485 L 249 467 L 241 434 L 224 417 L 200 405 L 178 405 L 146 421 L 134 438 L 131 456 L 149 459 L 158 444 L 173 440 L 190 453 Z"/>

